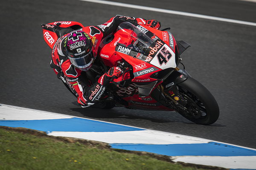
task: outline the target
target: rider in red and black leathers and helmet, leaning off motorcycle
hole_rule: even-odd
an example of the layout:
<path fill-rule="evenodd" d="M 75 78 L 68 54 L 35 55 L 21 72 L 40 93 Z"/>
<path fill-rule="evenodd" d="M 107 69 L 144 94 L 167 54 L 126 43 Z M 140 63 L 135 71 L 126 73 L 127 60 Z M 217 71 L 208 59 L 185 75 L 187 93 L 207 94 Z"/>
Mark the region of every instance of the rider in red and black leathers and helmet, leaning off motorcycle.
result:
<path fill-rule="evenodd" d="M 115 32 L 122 22 L 160 29 L 160 22 L 157 20 L 116 15 L 104 24 L 86 26 L 60 37 L 53 47 L 50 66 L 57 77 L 77 97 L 81 107 L 89 107 L 96 103 L 104 94 L 106 86 L 111 80 L 118 78 L 123 73 L 118 66 L 111 67 L 94 84 L 81 76 L 82 72 L 89 70 L 96 60 L 102 39 Z"/>

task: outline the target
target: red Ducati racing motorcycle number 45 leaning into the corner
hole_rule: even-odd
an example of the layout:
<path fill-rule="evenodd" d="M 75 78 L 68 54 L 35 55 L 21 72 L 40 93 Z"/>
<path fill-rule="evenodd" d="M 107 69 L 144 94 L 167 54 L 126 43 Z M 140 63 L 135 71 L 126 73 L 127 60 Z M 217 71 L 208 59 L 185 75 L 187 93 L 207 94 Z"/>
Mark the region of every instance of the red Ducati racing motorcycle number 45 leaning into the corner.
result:
<path fill-rule="evenodd" d="M 58 38 L 82 27 L 73 21 L 42 24 L 44 40 L 53 49 Z M 112 66 L 123 70 L 106 89 L 108 98 L 99 101 L 105 109 L 175 111 L 196 124 L 213 124 L 219 117 L 218 104 L 180 62 L 190 45 L 176 41 L 168 29 L 121 23 L 101 41 L 97 61 L 84 76 L 94 83 Z"/>

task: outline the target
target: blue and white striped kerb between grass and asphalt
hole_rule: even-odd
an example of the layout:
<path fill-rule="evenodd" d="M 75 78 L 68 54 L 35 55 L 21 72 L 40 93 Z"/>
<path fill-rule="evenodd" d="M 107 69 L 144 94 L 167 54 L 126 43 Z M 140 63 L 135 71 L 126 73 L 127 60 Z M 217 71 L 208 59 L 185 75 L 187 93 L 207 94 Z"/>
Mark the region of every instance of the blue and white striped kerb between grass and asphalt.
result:
<path fill-rule="evenodd" d="M 256 169 L 256 150 L 203 138 L 147 130 L 70 115 L 0 104 L 0 126 L 109 143 L 112 148 L 172 156 L 174 161 L 231 169 Z"/>

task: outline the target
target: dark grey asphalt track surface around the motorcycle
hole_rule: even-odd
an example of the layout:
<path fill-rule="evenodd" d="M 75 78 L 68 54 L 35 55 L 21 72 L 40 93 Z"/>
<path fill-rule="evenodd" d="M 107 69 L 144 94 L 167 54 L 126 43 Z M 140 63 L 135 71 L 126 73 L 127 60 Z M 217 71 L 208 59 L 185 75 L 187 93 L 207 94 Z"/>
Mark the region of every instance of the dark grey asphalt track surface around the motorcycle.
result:
<path fill-rule="evenodd" d="M 256 22 L 256 3 L 239 0 L 116 2 Z M 73 20 L 99 25 L 116 14 L 157 19 L 191 45 L 186 70 L 215 96 L 220 118 L 193 124 L 175 112 L 82 109 L 49 67 L 41 24 Z M 256 148 L 256 27 L 79 0 L 5 0 L 0 5 L 0 103 Z M 68 125 L 67 125 L 68 126 Z"/>

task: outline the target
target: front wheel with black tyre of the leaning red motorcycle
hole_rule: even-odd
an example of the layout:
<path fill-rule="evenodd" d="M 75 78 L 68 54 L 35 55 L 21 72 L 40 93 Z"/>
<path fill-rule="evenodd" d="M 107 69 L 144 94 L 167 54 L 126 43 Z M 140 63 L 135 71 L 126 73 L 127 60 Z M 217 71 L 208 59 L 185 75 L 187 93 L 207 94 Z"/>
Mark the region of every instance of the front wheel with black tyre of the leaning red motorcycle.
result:
<path fill-rule="evenodd" d="M 186 111 L 180 115 L 196 124 L 213 124 L 219 117 L 219 107 L 212 94 L 194 78 L 177 85 L 180 94 L 186 100 Z"/>

